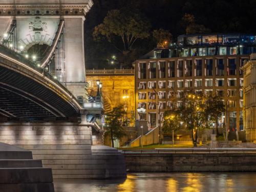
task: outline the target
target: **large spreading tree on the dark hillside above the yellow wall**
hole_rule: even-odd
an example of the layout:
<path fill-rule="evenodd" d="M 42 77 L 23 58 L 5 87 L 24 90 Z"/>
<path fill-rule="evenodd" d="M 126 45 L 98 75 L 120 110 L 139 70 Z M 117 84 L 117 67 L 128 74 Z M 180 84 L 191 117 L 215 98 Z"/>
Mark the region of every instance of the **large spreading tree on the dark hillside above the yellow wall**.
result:
<path fill-rule="evenodd" d="M 129 56 L 135 51 L 136 41 L 149 37 L 150 28 L 148 20 L 139 12 L 114 9 L 108 12 L 102 24 L 94 28 L 93 36 L 98 41 L 105 38 L 121 53 L 124 65 L 129 66 Z"/>

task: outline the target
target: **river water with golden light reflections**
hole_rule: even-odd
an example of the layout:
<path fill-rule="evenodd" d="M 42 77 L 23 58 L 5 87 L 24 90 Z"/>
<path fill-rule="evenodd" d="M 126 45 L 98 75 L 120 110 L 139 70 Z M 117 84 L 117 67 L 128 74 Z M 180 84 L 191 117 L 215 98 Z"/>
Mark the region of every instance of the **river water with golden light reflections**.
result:
<path fill-rule="evenodd" d="M 139 173 L 126 180 L 54 180 L 55 192 L 256 191 L 256 173 Z"/>

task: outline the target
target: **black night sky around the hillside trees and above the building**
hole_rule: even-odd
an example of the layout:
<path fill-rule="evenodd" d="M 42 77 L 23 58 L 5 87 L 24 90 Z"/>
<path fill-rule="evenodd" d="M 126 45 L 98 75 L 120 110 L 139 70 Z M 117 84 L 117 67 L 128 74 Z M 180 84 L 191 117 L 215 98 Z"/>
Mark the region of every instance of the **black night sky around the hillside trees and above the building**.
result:
<path fill-rule="evenodd" d="M 118 55 L 106 41 L 93 40 L 94 27 L 101 24 L 108 11 L 127 7 L 138 10 L 151 23 L 151 31 L 165 29 L 173 35 L 185 34 L 182 17 L 185 13 L 195 16 L 197 24 L 204 25 L 211 32 L 255 33 L 256 0 L 94 0 L 94 6 L 86 16 L 85 51 L 86 68 L 118 68 L 111 66 L 108 59 Z M 156 47 L 152 35 L 137 42 L 136 55 L 139 58 Z"/>

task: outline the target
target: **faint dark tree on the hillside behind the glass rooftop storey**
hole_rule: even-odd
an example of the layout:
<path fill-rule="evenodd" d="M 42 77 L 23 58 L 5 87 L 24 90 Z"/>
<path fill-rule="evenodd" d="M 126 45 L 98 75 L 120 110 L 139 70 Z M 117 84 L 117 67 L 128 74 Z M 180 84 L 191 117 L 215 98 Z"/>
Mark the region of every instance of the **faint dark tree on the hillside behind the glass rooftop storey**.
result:
<path fill-rule="evenodd" d="M 195 16 L 192 14 L 185 13 L 185 15 L 182 17 L 182 23 L 185 27 L 186 34 L 210 32 L 210 29 L 207 29 L 204 25 L 197 24 Z"/>

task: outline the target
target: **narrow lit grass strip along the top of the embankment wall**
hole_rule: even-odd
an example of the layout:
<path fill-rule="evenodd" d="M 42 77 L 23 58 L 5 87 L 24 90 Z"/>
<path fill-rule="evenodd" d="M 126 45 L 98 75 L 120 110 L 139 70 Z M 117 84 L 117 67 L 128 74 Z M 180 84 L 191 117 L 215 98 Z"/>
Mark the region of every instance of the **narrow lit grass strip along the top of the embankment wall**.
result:
<path fill-rule="evenodd" d="M 197 146 L 201 146 L 201 144 L 198 144 Z M 144 150 L 152 150 L 154 148 L 190 148 L 193 147 L 193 143 L 191 142 L 191 144 L 153 144 L 153 145 L 145 145 L 143 146 Z M 137 147 L 129 147 L 129 148 L 118 148 L 120 150 L 141 150 L 142 147 L 141 146 L 137 146 Z"/>

